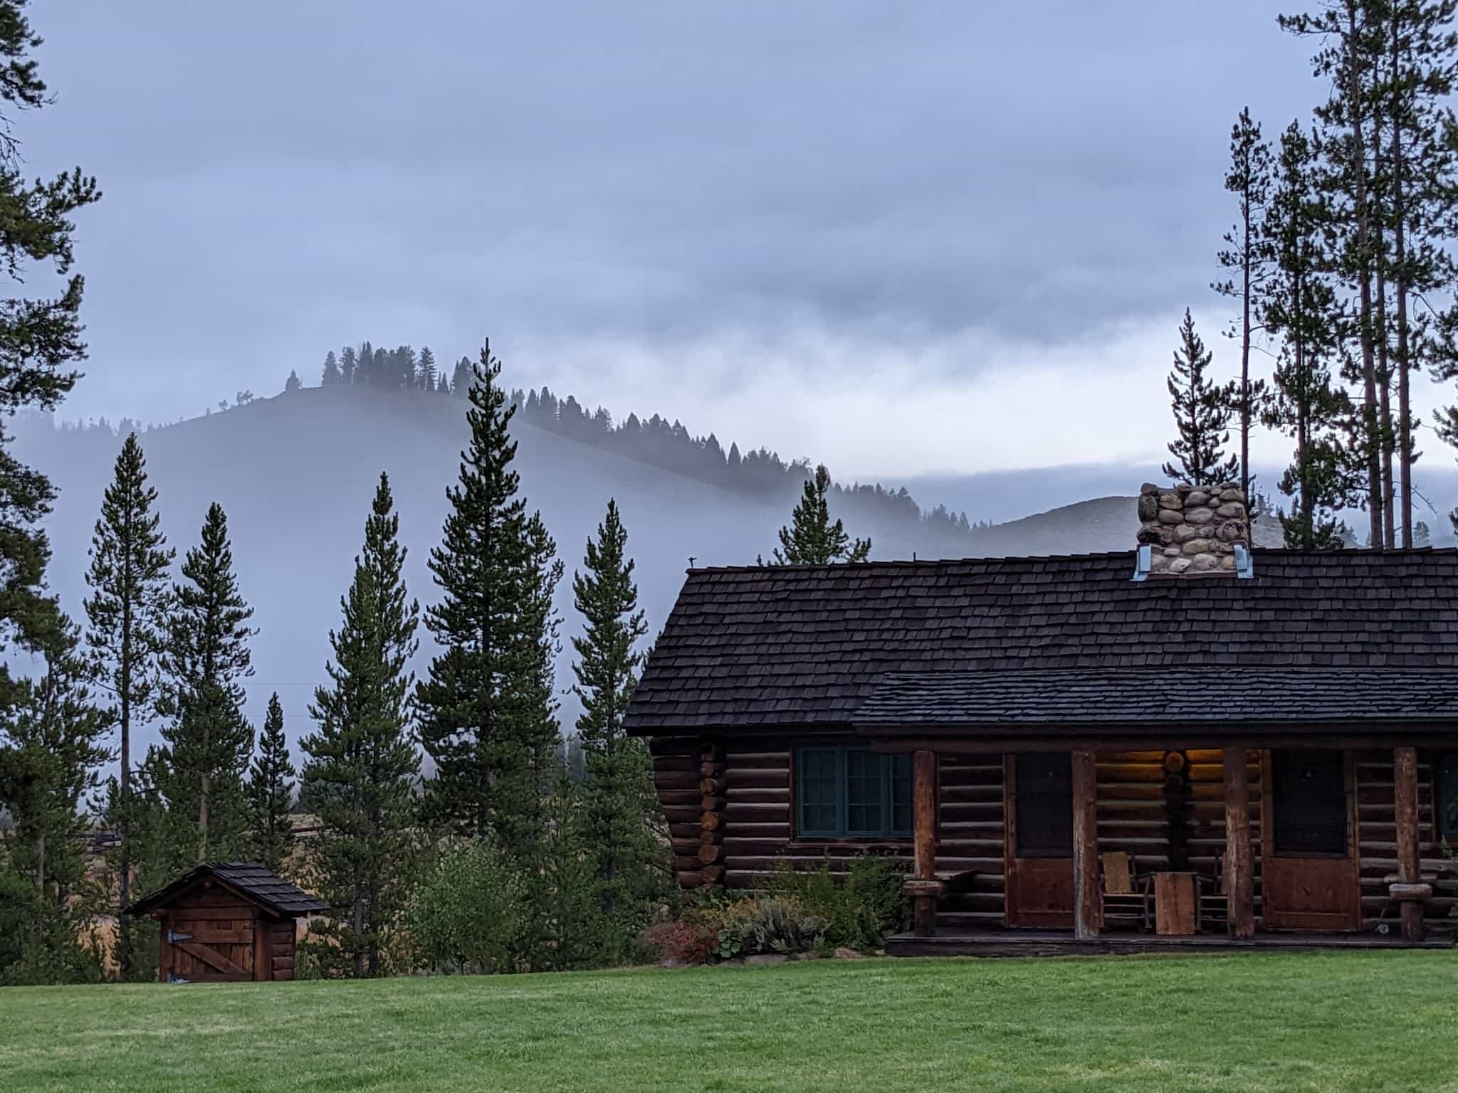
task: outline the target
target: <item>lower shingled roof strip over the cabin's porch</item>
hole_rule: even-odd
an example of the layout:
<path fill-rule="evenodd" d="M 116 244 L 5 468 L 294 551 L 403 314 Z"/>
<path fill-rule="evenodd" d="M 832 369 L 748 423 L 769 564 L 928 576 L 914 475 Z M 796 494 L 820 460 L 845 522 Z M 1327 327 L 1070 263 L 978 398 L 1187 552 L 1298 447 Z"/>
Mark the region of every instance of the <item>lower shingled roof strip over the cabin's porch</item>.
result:
<path fill-rule="evenodd" d="M 856 710 L 870 737 L 1458 739 L 1458 672 L 1095 667 L 891 672 Z"/>

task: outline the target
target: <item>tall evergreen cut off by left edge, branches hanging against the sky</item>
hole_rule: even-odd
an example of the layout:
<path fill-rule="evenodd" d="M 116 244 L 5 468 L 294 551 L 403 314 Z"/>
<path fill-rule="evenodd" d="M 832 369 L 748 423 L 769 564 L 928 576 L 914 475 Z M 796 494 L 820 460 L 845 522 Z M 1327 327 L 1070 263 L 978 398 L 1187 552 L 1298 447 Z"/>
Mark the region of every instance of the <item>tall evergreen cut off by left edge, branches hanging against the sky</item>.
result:
<path fill-rule="evenodd" d="M 29 57 L 41 39 L 31 31 L 22 0 L 0 0 L 0 103 L 15 114 L 39 109 L 52 93 Z M 66 277 L 52 299 L 12 296 L 0 302 L 0 412 L 26 407 L 54 410 L 77 379 L 71 367 L 86 356 L 80 305 L 83 280 L 71 273 L 71 216 L 101 197 L 96 181 L 80 168 L 54 179 L 26 181 L 20 141 L 9 121 L 0 131 L 0 265 L 20 284 L 32 270 L 50 264 Z M 0 708 L 9 708 L 23 686 L 12 676 L 15 651 L 39 653 L 60 628 L 55 602 L 45 593 L 51 557 L 41 520 L 54 490 L 45 475 L 10 452 L 0 427 Z"/>

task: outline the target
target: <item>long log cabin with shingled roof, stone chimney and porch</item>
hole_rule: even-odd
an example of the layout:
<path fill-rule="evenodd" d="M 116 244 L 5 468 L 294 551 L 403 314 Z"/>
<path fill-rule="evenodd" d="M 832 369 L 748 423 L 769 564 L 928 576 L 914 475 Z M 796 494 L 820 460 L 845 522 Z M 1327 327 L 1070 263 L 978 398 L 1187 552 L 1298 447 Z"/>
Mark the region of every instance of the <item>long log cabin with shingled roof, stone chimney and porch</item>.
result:
<path fill-rule="evenodd" d="M 892 953 L 1446 946 L 1458 551 L 693 568 L 633 695 L 679 885 L 905 860 Z"/>

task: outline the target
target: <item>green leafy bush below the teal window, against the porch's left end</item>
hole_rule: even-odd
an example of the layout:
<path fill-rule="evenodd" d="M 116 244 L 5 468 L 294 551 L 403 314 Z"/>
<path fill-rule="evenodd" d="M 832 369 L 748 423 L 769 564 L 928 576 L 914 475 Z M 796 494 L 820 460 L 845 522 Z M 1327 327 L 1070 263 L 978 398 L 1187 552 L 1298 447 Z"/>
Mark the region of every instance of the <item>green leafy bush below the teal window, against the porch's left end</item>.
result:
<path fill-rule="evenodd" d="M 764 890 L 824 920 L 827 946 L 876 949 L 905 921 L 904 873 L 905 863 L 885 854 L 857 854 L 843 877 L 831 873 L 828 860 L 815 869 L 795 869 L 777 858 Z"/>

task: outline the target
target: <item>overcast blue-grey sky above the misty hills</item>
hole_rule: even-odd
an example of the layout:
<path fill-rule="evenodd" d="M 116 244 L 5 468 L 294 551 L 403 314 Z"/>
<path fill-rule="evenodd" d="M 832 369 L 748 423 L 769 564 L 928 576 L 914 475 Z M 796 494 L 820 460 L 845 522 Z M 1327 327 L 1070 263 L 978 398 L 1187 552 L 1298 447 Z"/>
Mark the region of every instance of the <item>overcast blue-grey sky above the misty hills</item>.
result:
<path fill-rule="evenodd" d="M 66 414 L 488 334 L 513 385 L 838 477 L 1155 461 L 1187 305 L 1235 364 L 1231 122 L 1322 90 L 1279 7 L 39 3 L 19 136 L 105 191 Z"/>

